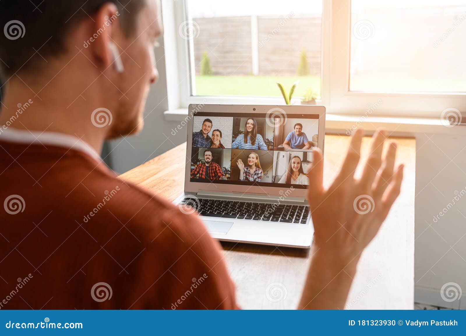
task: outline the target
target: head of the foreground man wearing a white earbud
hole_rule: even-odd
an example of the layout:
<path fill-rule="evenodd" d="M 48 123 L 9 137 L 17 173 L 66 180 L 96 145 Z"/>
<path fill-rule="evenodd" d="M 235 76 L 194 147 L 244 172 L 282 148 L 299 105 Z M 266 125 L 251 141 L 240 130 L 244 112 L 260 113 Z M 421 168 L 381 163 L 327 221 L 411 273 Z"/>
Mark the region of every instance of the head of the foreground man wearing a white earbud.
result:
<path fill-rule="evenodd" d="M 94 110 L 109 110 L 107 138 L 142 128 L 149 85 L 158 78 L 153 54 L 162 31 L 158 0 L 21 0 L 2 1 L 1 7 L 5 81 L 20 78 L 38 87 L 39 97 L 54 88 L 56 99 L 44 103 L 50 109 L 57 101 L 68 106 L 67 120 L 76 117 L 70 115 L 73 109 L 89 121 Z"/>

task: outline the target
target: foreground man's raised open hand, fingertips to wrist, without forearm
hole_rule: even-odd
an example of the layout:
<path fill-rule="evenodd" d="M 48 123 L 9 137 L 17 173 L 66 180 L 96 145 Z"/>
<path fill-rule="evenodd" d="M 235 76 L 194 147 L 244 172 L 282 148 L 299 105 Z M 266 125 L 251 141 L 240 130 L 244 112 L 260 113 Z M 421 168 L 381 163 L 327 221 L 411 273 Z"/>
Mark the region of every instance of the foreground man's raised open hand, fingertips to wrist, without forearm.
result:
<path fill-rule="evenodd" d="M 329 189 L 322 186 L 322 151 L 314 151 L 309 171 L 308 202 L 315 228 L 315 245 L 351 260 L 370 243 L 400 193 L 403 165 L 394 170 L 397 145 L 391 142 L 382 159 L 386 132 L 377 130 L 363 175 L 354 178 L 363 130 L 357 129 L 340 173 Z"/>

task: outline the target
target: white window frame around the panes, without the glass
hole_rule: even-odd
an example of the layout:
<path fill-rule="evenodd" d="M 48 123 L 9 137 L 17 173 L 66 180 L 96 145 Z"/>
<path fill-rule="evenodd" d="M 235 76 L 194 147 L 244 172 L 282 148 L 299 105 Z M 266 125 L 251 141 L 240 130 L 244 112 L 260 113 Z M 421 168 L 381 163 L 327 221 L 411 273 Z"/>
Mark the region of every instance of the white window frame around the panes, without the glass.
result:
<path fill-rule="evenodd" d="M 194 76 L 192 40 L 185 40 L 178 29 L 187 20 L 186 0 L 163 0 L 164 45 L 167 91 L 170 110 L 187 108 L 189 104 L 277 104 L 281 97 L 195 96 L 191 78 Z M 167 20 L 167 18 L 169 18 Z M 174 20 L 170 20 L 174 18 Z M 466 93 L 371 93 L 349 91 L 351 35 L 351 0 L 323 0 L 321 95 L 317 104 L 326 106 L 331 114 L 361 115 L 367 104 L 381 100 L 372 116 L 439 118 L 445 108 L 466 113 Z M 189 72 L 192 72 L 191 74 Z M 293 103 L 299 104 L 299 98 Z"/>

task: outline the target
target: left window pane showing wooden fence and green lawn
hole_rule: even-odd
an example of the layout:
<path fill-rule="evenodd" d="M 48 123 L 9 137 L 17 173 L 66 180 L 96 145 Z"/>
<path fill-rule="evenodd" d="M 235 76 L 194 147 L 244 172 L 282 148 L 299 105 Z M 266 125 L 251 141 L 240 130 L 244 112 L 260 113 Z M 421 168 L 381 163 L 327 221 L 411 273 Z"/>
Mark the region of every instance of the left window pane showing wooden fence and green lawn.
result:
<path fill-rule="evenodd" d="M 322 0 L 187 0 L 194 96 L 320 95 Z"/>

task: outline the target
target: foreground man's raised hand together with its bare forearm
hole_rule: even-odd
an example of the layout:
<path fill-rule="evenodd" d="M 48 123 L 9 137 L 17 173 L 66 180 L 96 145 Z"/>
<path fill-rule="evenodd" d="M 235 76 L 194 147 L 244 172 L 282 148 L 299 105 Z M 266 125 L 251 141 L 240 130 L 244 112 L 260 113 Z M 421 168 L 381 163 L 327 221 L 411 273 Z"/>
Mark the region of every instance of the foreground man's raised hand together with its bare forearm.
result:
<path fill-rule="evenodd" d="M 400 193 L 403 165 L 394 169 L 397 145 L 391 142 L 384 158 L 386 132 L 377 130 L 360 179 L 363 130 L 356 129 L 341 171 L 323 187 L 323 157 L 314 150 L 308 173 L 308 202 L 314 224 L 313 256 L 299 307 L 343 309 L 363 249 L 370 243 Z"/>

